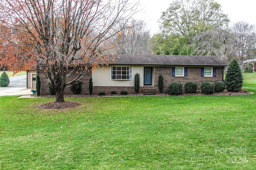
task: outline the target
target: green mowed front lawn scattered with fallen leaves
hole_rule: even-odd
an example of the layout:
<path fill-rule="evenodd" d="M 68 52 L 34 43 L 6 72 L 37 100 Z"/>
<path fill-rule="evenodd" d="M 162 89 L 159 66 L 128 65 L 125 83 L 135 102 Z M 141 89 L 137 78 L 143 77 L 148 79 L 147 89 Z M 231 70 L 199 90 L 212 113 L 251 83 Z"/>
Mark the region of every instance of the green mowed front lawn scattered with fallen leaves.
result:
<path fill-rule="evenodd" d="M 66 98 L 82 106 L 63 110 L 1 96 L 0 167 L 254 169 L 256 87 L 245 82 L 254 94 Z"/>

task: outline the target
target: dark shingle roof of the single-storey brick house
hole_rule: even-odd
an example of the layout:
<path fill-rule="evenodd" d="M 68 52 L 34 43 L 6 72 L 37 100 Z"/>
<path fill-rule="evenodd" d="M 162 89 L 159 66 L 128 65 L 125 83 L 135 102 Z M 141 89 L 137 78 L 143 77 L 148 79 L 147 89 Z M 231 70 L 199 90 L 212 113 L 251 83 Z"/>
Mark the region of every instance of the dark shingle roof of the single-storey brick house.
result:
<path fill-rule="evenodd" d="M 140 64 L 140 65 L 200 65 L 227 66 L 216 56 L 186 56 L 186 55 L 114 55 L 115 63 L 111 64 Z"/>

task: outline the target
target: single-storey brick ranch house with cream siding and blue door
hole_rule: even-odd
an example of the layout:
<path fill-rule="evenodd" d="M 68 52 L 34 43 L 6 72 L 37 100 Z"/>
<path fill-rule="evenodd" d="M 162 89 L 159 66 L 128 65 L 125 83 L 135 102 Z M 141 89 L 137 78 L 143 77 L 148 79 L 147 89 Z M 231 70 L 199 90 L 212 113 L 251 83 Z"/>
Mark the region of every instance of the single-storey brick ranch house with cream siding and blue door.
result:
<path fill-rule="evenodd" d="M 81 94 L 89 94 L 89 79 L 92 77 L 93 94 L 105 92 L 110 94 L 122 90 L 135 93 L 134 75 L 140 74 L 140 93 L 159 93 L 158 77 L 163 74 L 164 89 L 166 92 L 170 82 L 194 81 L 200 89 L 205 81 L 223 81 L 226 63 L 215 56 L 179 56 L 179 55 L 116 55 L 115 63 L 104 68 L 95 68 L 87 72 L 82 80 Z M 74 73 L 76 74 L 76 73 Z M 48 80 L 39 72 L 41 95 L 47 95 Z M 68 77 L 67 80 L 72 79 Z M 31 84 L 31 83 L 28 83 Z M 70 86 L 66 86 L 64 94 L 72 94 Z"/>

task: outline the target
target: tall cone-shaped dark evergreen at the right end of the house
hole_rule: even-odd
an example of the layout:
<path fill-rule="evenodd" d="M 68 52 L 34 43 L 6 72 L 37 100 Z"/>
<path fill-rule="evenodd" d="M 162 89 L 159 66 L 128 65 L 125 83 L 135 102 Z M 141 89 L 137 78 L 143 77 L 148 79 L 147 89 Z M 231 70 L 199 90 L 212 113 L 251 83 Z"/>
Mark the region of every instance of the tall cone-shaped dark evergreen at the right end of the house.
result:
<path fill-rule="evenodd" d="M 243 86 L 243 75 L 236 59 L 228 63 L 227 74 L 224 80 L 228 92 L 237 92 Z"/>

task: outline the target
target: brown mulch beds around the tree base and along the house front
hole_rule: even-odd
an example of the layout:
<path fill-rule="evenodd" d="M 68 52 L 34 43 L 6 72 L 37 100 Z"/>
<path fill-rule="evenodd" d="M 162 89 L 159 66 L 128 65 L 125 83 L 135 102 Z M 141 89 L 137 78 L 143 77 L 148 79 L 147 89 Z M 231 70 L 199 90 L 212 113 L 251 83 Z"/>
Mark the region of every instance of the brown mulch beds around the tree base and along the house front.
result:
<path fill-rule="evenodd" d="M 245 95 L 245 94 L 252 94 L 252 92 L 221 92 L 221 93 L 214 93 L 214 94 L 204 94 L 201 92 L 197 93 L 184 93 L 180 95 L 175 96 L 191 96 L 191 95 L 208 95 L 208 96 L 234 96 L 234 95 Z M 84 97 L 110 97 L 110 96 L 143 96 L 143 94 L 128 94 L 128 95 L 119 95 L 119 94 L 106 94 L 103 96 L 99 95 L 85 95 L 85 94 L 74 94 L 74 95 L 64 95 L 65 98 L 84 98 Z M 171 96 L 169 94 L 156 94 L 155 96 Z M 36 96 L 37 97 L 37 96 Z M 42 98 L 55 98 L 55 96 L 39 96 Z M 46 104 L 42 104 L 39 106 L 36 106 L 40 109 L 68 109 L 68 108 L 74 108 L 82 106 L 82 104 L 79 104 L 77 102 L 73 101 L 65 101 L 65 102 L 50 102 Z"/>

